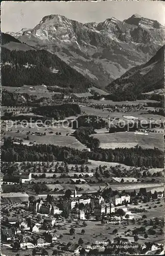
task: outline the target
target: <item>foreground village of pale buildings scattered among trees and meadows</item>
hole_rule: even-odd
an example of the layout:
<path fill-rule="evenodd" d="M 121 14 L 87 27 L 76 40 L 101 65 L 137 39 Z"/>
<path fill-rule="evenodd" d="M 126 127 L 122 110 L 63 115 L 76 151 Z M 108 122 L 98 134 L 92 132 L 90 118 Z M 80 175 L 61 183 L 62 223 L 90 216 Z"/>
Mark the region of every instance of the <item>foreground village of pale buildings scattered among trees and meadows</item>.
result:
<path fill-rule="evenodd" d="M 62 168 L 63 163 L 58 166 Z M 66 167 L 67 163 L 64 166 Z M 67 255 L 68 252 L 84 255 L 94 250 L 103 253 L 106 250 L 124 250 L 121 241 L 129 243 L 130 247 L 125 249 L 130 248 L 132 252 L 147 254 L 150 251 L 163 251 L 164 191 L 161 183 L 155 183 L 153 186 L 151 183 L 137 182 L 137 179 L 129 177 L 126 178 L 127 182 L 118 178 L 118 183 L 92 186 L 94 184 L 89 185 L 88 180 L 99 175 L 98 169 L 96 172 L 89 172 L 86 167 L 89 172 L 87 175 L 82 166 L 68 167 L 69 174 L 74 172 L 75 168 L 81 178 L 77 175 L 76 179 L 74 173 L 74 178 L 68 178 L 70 184 L 64 176 L 65 178 L 59 180 L 63 179 L 65 184 L 43 184 L 41 190 L 42 186 L 37 182 L 40 178 L 25 170 L 21 172 L 20 166 L 15 175 L 1 177 L 4 189 L 1 197 L 1 246 L 8 255 L 12 252 L 23 255 L 27 252 L 30 255 L 41 252 L 48 255 Z M 81 173 L 78 173 L 80 167 Z M 51 173 L 45 173 L 44 168 L 41 166 L 41 172 L 44 173 L 40 175 L 50 175 L 49 178 L 43 179 L 52 180 Z M 115 182 L 115 177 L 113 178 Z M 32 190 L 32 184 L 35 190 Z M 128 189 L 121 189 L 120 184 Z M 9 188 L 14 186 L 15 192 L 9 192 Z M 44 186 L 52 187 L 53 190 L 46 191 Z M 159 212 L 159 218 L 156 213 L 153 214 L 155 210 Z M 100 230 L 100 235 L 99 231 L 95 235 L 95 229 Z M 100 241 L 103 241 L 102 245 L 99 244 Z"/>

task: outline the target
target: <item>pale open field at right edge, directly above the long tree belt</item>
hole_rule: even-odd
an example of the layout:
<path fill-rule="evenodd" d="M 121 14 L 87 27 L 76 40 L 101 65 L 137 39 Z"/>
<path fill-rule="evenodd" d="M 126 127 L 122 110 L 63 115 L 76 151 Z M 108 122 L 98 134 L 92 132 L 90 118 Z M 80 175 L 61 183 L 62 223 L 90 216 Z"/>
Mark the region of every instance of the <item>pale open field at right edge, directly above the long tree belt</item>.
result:
<path fill-rule="evenodd" d="M 143 148 L 157 147 L 164 150 L 163 134 L 149 133 L 148 135 L 134 134 L 134 132 L 94 134 L 100 141 L 102 148 L 134 147 L 137 144 Z"/>

